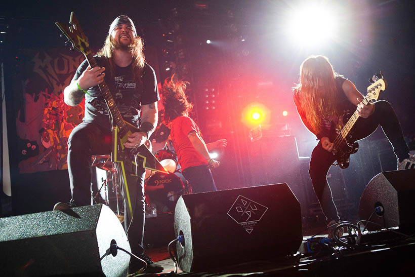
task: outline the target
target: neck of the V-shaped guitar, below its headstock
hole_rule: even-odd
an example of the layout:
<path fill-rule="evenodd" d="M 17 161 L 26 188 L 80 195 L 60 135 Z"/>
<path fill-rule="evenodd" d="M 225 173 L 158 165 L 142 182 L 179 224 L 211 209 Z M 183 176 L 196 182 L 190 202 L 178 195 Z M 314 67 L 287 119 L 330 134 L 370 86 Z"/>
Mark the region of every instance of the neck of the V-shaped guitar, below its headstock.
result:
<path fill-rule="evenodd" d="M 87 58 L 91 68 L 98 66 L 92 52 L 86 54 L 85 57 Z M 119 129 L 118 133 L 121 137 L 125 136 L 128 132 L 126 123 L 123 121 L 121 113 L 119 112 L 118 107 L 115 105 L 115 101 L 112 98 L 112 94 L 109 91 L 107 84 L 105 83 L 105 81 L 103 81 L 101 84 L 98 85 L 98 87 L 102 95 L 104 96 L 105 102 L 107 103 L 107 106 L 111 112 L 112 120 L 115 121 L 115 124 Z"/>

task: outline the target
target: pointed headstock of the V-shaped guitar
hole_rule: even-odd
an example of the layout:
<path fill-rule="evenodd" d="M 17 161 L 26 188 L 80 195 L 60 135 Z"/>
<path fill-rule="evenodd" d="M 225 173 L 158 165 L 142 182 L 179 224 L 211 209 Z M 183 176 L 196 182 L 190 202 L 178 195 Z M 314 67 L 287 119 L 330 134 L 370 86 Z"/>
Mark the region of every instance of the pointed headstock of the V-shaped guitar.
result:
<path fill-rule="evenodd" d="M 71 50 L 76 49 L 84 55 L 89 54 L 88 37 L 82 31 L 78 20 L 73 12 L 69 19 L 69 25 L 64 23 L 55 22 L 61 32 L 68 38 L 68 42 L 72 44 Z"/>

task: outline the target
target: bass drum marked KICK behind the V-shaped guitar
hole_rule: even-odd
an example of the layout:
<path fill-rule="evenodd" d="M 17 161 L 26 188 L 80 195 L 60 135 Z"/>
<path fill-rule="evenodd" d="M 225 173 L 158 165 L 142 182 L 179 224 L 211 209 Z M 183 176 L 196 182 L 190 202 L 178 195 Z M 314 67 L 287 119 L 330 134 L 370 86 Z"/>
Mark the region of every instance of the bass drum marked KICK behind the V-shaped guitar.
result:
<path fill-rule="evenodd" d="M 157 172 L 144 184 L 146 202 L 157 213 L 173 213 L 177 200 L 183 192 L 182 180 L 173 173 Z"/>

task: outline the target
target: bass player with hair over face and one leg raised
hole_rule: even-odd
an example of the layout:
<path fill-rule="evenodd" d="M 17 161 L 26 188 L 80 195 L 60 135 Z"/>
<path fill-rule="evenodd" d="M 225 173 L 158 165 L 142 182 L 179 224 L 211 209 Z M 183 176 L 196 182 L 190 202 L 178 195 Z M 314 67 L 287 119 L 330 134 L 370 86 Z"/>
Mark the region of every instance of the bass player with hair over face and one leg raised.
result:
<path fill-rule="evenodd" d="M 343 111 L 354 112 L 359 118 L 352 128 L 353 140 L 369 136 L 380 125 L 393 146 L 398 169 L 415 167 L 415 157 L 409 155 L 395 111 L 387 101 L 364 105 L 362 94 L 355 85 L 334 71 L 324 56 L 310 56 L 300 66 L 300 82 L 294 88 L 294 103 L 307 129 L 320 140 L 311 154 L 310 177 L 314 192 L 329 227 L 329 237 L 340 221 L 326 175 L 336 161 L 335 126 Z"/>

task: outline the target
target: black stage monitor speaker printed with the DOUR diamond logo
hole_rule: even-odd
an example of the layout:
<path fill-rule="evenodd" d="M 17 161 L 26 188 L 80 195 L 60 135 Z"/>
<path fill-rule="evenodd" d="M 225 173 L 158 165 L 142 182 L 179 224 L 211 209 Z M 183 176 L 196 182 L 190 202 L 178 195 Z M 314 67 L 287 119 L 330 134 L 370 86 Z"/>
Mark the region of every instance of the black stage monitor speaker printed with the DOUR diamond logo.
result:
<path fill-rule="evenodd" d="M 185 194 L 175 234 L 186 272 L 287 256 L 303 239 L 300 204 L 286 183 Z"/>

